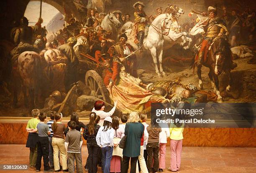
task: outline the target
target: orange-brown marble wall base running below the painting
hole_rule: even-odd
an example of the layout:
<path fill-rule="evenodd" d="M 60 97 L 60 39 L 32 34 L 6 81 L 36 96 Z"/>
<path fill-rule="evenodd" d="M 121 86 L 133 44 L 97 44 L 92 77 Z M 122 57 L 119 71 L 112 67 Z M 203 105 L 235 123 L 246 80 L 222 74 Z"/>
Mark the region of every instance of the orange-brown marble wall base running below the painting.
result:
<path fill-rule="evenodd" d="M 0 144 L 26 144 L 26 125 L 0 123 Z M 184 128 L 183 136 L 183 146 L 256 147 L 256 128 Z M 168 145 L 169 142 L 168 138 Z"/>

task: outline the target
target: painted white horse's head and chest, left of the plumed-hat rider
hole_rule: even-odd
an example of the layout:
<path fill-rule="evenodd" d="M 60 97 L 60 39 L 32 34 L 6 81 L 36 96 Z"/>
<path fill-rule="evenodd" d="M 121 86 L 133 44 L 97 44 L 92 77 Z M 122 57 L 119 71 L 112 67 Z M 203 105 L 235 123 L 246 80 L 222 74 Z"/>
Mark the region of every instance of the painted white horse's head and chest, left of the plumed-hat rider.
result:
<path fill-rule="evenodd" d="M 113 40 L 115 40 L 121 23 L 113 13 L 108 13 L 102 20 L 100 26 L 103 28 L 103 30 L 107 31 L 107 33 L 111 33 L 112 39 L 114 38 Z"/>

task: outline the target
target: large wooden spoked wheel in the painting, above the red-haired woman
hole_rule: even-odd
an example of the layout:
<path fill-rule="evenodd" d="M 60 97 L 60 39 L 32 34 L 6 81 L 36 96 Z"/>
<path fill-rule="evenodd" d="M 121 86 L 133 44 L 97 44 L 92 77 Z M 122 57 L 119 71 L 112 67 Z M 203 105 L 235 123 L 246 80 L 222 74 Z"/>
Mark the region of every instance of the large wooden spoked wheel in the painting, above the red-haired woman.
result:
<path fill-rule="evenodd" d="M 95 70 L 89 70 L 86 72 L 85 84 L 90 88 L 92 96 L 111 104 L 109 92 L 103 83 L 103 79 Z"/>

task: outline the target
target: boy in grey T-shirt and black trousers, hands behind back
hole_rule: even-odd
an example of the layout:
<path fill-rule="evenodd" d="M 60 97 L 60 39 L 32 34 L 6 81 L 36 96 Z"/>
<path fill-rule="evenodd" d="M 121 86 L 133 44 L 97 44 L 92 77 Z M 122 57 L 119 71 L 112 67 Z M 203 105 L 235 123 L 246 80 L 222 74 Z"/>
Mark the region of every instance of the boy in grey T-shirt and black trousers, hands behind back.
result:
<path fill-rule="evenodd" d="M 36 126 L 38 130 L 38 142 L 37 142 L 37 158 L 36 158 L 36 172 L 41 169 L 41 160 L 44 159 L 44 172 L 54 172 L 49 166 L 49 139 L 48 135 L 51 134 L 49 126 L 46 125 L 47 116 L 46 113 L 39 114 L 40 122 Z"/>

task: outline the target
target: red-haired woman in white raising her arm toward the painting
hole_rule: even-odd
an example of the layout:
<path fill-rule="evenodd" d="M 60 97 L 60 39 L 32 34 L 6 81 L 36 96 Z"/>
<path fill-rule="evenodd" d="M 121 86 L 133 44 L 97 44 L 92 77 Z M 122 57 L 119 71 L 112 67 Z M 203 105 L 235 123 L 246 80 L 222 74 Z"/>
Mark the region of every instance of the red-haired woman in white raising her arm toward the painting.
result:
<path fill-rule="evenodd" d="M 100 122 L 98 123 L 98 125 L 102 127 L 105 117 L 111 117 L 113 115 L 116 105 L 117 101 L 114 102 L 114 107 L 109 112 L 105 112 L 105 103 L 100 100 L 95 102 L 92 112 L 95 112 L 96 115 L 100 116 Z"/>

